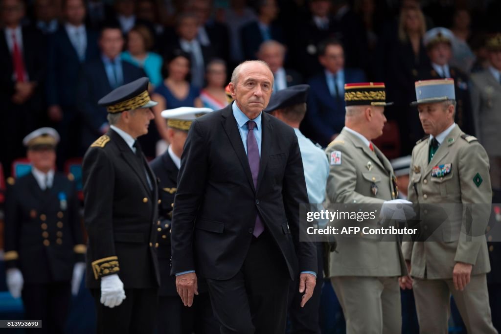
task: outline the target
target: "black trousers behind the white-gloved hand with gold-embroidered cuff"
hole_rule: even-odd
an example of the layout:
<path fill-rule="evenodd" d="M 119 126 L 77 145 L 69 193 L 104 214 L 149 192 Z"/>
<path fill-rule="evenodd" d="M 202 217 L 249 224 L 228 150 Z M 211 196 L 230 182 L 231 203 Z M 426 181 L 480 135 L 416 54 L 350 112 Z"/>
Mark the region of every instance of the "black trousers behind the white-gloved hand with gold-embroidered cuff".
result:
<path fill-rule="evenodd" d="M 93 289 L 98 334 L 153 333 L 156 323 L 158 289 L 125 289 L 126 298 L 113 308 L 101 304 L 101 291 Z"/>

